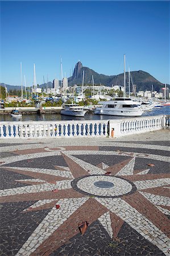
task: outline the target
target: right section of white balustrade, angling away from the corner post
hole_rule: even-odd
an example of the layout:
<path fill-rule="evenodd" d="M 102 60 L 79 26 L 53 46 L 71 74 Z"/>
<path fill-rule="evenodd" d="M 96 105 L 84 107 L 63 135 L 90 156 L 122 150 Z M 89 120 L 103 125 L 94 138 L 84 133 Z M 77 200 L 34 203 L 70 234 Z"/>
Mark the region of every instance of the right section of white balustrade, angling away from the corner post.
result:
<path fill-rule="evenodd" d="M 169 125 L 170 115 L 155 115 L 150 117 L 125 118 L 109 121 L 109 137 L 146 133 L 164 129 Z"/>

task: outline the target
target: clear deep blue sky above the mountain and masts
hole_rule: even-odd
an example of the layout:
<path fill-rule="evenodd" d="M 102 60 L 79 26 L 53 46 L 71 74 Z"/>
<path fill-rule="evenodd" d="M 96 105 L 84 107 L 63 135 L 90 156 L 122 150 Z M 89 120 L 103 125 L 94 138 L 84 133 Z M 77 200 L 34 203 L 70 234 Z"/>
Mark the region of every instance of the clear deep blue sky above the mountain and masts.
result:
<path fill-rule="evenodd" d="M 105 75 L 143 70 L 169 81 L 169 1 L 1 1 L 1 82 L 67 77 L 78 60 Z"/>

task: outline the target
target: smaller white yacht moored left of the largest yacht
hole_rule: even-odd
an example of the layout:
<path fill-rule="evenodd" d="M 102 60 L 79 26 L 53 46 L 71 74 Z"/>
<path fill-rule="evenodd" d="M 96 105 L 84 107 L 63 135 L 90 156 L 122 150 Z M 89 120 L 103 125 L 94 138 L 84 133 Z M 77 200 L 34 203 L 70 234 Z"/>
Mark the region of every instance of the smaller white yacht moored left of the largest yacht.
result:
<path fill-rule="evenodd" d="M 61 109 L 61 115 L 73 115 L 74 117 L 84 117 L 88 110 L 84 109 L 83 106 L 77 104 L 65 104 L 64 109 Z"/>

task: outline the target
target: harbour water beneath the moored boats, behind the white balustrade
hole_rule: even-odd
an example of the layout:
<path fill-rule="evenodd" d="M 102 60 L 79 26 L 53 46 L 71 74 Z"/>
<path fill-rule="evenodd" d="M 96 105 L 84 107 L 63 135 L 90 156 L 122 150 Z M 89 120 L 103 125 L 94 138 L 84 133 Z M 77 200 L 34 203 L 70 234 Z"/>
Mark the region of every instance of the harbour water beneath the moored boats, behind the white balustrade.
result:
<path fill-rule="evenodd" d="M 160 109 L 154 108 L 148 111 L 145 111 L 142 116 L 152 116 L 152 115 L 170 115 L 169 106 L 163 106 Z M 84 117 L 72 117 L 69 115 L 61 114 L 23 114 L 22 118 L 11 117 L 10 114 L 0 115 L 1 121 L 60 121 L 60 120 L 106 120 L 106 119 L 121 119 L 126 117 L 118 117 L 115 115 L 97 115 L 91 112 L 85 114 Z M 135 117 L 130 117 L 135 118 Z"/>

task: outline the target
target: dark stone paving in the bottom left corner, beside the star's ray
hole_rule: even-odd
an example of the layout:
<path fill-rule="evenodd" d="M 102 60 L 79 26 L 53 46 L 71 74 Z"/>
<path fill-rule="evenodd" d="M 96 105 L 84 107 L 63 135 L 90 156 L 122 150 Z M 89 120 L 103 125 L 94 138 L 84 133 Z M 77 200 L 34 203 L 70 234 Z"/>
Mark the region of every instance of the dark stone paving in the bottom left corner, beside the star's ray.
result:
<path fill-rule="evenodd" d="M 50 209 L 23 213 L 35 201 L 1 204 L 0 255 L 16 255 Z"/>

